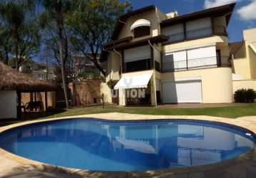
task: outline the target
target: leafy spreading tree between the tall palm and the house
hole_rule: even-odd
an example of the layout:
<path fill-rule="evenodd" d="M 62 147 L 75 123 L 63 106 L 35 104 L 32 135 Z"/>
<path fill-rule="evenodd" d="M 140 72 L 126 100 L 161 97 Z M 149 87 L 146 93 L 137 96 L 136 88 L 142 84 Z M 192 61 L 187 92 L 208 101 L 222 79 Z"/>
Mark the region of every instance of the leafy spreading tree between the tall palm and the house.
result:
<path fill-rule="evenodd" d="M 81 0 L 79 8 L 68 18 L 77 51 L 89 58 L 104 75 L 106 73 L 99 65 L 98 56 L 102 45 L 111 38 L 118 17 L 127 6 L 128 2 L 121 3 L 118 0 Z"/>

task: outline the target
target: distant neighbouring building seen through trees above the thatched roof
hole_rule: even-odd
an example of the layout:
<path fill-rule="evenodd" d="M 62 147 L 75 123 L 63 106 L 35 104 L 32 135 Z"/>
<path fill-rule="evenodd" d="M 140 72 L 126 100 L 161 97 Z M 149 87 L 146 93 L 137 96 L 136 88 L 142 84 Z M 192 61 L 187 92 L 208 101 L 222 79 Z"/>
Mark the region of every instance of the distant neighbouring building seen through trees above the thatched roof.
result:
<path fill-rule="evenodd" d="M 23 63 L 19 68 L 19 71 L 29 73 L 33 78 L 38 80 L 53 80 L 56 78 L 56 75 L 54 74 L 54 67 L 51 65 L 46 65 L 46 63 L 26 61 L 26 63 Z"/>

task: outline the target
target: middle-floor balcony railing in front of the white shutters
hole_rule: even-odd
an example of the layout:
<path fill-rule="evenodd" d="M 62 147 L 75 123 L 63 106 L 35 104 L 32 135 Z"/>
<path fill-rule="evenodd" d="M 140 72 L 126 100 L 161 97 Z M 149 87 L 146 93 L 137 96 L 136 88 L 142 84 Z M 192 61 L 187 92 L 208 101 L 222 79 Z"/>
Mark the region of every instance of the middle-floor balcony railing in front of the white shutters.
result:
<path fill-rule="evenodd" d="M 220 66 L 220 61 L 218 61 L 217 56 L 212 56 L 207 58 L 187 59 L 184 61 L 163 62 L 162 72 L 167 73 L 200 68 L 217 68 L 218 66 Z"/>

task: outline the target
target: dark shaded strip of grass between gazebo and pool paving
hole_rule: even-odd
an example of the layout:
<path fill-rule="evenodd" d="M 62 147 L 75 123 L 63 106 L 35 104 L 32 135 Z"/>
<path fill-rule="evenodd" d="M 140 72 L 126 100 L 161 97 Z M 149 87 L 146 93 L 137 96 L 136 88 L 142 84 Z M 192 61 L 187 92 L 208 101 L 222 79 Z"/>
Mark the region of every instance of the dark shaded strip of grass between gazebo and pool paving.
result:
<path fill-rule="evenodd" d="M 22 113 L 21 118 L 1 119 L 0 120 L 0 127 L 15 124 L 15 123 L 18 123 L 18 122 L 24 122 L 24 121 L 29 121 L 29 120 L 37 120 L 41 117 L 49 117 L 51 115 L 56 115 L 56 114 L 59 114 L 59 113 L 65 112 L 65 111 L 66 110 L 64 110 L 64 109 L 54 109 L 54 110 L 49 110 L 47 112 L 26 112 L 26 113 Z"/>

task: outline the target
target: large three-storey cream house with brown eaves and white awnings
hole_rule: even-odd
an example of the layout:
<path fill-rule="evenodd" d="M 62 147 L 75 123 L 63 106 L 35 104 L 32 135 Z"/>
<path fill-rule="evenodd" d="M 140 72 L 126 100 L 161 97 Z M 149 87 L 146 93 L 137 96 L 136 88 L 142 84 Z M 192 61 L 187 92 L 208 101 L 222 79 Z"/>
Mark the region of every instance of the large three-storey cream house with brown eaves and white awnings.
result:
<path fill-rule="evenodd" d="M 101 56 L 107 61 L 107 85 L 102 85 L 107 100 L 119 105 L 232 103 L 226 29 L 234 8 L 228 4 L 178 16 L 147 6 L 120 16 Z M 118 101 L 112 88 L 118 89 Z M 146 88 L 145 97 L 131 97 L 139 88 Z"/>

